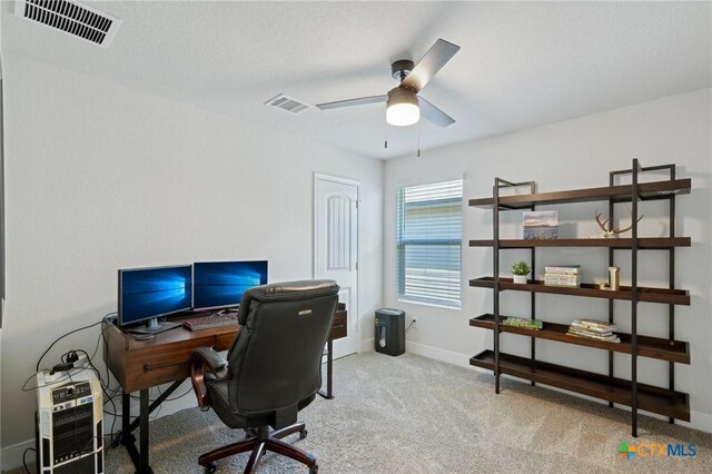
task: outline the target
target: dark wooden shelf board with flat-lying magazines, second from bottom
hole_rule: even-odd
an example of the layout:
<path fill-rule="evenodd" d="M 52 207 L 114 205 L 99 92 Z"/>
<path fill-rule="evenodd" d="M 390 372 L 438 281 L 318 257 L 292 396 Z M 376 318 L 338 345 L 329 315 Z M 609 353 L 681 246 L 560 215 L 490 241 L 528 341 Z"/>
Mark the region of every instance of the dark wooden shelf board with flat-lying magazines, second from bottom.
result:
<path fill-rule="evenodd" d="M 500 320 L 504 320 L 506 316 L 500 316 Z M 482 327 L 484 329 L 494 330 L 494 315 L 484 314 L 469 319 L 469 325 Z M 616 353 L 631 354 L 631 335 L 625 333 L 615 333 L 620 338 L 620 343 L 610 343 L 604 340 L 585 339 L 583 337 L 567 336 L 567 324 L 544 323 L 542 329 L 527 329 L 523 327 L 500 325 L 502 333 L 518 334 L 522 336 L 536 337 L 541 339 L 556 340 L 560 343 L 575 344 L 578 346 L 595 347 L 599 349 L 613 350 Z M 670 361 L 680 364 L 690 364 L 690 345 L 681 340 L 670 340 L 659 337 L 637 336 L 637 355 L 642 357 L 651 357 L 661 361 Z"/>

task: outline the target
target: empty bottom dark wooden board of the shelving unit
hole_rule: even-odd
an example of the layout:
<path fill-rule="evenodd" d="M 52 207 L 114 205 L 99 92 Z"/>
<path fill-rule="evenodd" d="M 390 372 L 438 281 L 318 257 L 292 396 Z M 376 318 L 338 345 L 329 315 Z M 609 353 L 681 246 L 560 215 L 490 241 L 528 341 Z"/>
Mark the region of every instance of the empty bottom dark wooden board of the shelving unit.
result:
<path fill-rule="evenodd" d="M 469 359 L 469 364 L 494 371 L 494 352 L 485 350 L 477 354 Z M 504 353 L 500 353 L 500 369 L 503 374 L 631 406 L 630 381 Z M 690 397 L 681 392 L 637 384 L 637 407 L 659 415 L 690 421 Z"/>

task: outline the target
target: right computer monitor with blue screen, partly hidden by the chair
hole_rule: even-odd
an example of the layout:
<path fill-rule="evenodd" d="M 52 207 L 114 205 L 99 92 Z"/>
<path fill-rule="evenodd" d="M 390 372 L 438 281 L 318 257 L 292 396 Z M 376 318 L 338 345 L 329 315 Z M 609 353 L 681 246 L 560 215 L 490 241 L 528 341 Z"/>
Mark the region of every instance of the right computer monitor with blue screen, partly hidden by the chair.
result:
<path fill-rule="evenodd" d="M 267 260 L 192 264 L 192 308 L 237 306 L 243 293 L 267 283 Z"/>

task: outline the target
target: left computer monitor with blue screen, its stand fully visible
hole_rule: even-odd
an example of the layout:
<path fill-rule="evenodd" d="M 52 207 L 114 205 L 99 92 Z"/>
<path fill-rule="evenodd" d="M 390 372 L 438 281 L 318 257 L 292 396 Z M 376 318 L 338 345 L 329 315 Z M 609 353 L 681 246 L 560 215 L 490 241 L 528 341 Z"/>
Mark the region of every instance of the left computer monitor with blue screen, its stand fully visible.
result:
<path fill-rule="evenodd" d="M 160 333 L 180 326 L 158 318 L 190 309 L 190 265 L 119 270 L 119 326 L 132 333 Z M 139 326 L 138 323 L 146 323 Z"/>

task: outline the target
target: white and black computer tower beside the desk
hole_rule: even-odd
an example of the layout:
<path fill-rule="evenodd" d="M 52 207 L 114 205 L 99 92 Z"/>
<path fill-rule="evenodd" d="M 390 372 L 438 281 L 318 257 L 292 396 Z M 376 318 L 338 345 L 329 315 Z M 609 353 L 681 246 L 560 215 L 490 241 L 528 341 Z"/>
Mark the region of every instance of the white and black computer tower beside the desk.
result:
<path fill-rule="evenodd" d="M 103 474 L 101 385 L 87 368 L 37 375 L 38 474 Z"/>

